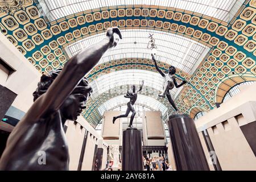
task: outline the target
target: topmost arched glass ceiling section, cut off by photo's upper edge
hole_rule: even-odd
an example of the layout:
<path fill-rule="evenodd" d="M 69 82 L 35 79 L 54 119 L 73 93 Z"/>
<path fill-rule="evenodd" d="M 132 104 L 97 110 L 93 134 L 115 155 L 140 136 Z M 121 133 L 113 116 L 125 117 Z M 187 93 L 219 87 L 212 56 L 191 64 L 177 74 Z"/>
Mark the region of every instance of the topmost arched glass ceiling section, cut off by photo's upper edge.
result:
<path fill-rule="evenodd" d="M 39 0 L 49 21 L 101 7 L 155 5 L 193 11 L 229 22 L 233 18 L 229 12 L 236 2 L 239 2 L 240 6 L 243 3 L 241 0 Z"/>

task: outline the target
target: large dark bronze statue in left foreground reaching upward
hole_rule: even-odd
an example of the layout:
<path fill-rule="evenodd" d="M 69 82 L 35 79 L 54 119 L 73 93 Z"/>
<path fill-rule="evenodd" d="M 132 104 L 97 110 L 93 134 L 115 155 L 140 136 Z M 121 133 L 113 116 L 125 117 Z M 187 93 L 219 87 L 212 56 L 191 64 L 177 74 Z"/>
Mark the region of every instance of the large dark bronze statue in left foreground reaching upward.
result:
<path fill-rule="evenodd" d="M 65 64 L 43 75 L 34 92 L 34 104 L 10 134 L 0 159 L 0 170 L 68 170 L 69 154 L 63 125 L 76 121 L 92 88 L 84 76 L 117 45 L 117 27 L 106 37 L 83 49 Z"/>

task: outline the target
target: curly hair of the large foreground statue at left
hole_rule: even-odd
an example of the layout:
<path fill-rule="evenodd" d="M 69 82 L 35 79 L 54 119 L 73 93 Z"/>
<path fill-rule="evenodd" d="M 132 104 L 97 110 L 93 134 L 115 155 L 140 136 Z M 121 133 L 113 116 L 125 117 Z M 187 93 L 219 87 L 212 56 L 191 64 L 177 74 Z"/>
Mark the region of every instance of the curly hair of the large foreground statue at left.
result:
<path fill-rule="evenodd" d="M 34 102 L 36 99 L 38 99 L 42 94 L 46 93 L 49 86 L 52 84 L 52 82 L 55 80 L 55 78 L 60 74 L 63 68 L 59 68 L 56 70 L 53 70 L 48 73 L 48 75 L 42 75 L 40 82 L 38 82 L 38 88 L 36 88 L 36 91 L 33 93 L 34 96 Z M 73 90 L 71 94 L 82 94 L 82 95 L 89 95 L 92 92 L 92 88 L 89 85 L 89 82 L 86 77 L 82 78 L 79 84 L 76 86 L 76 88 Z"/>

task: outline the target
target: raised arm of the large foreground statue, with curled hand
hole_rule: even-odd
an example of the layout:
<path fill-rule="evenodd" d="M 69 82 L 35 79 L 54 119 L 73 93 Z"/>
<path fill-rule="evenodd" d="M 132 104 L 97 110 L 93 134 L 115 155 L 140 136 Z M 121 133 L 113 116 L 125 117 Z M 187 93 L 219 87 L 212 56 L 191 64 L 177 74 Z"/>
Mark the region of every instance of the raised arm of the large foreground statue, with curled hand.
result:
<path fill-rule="evenodd" d="M 117 34 L 122 39 L 121 32 L 117 27 L 109 28 L 103 40 L 83 49 L 68 60 L 63 71 L 52 82 L 47 92 L 39 97 L 32 106 L 40 107 L 40 109 L 36 110 L 36 113 L 34 109 L 31 109 L 34 117 L 44 117 L 49 112 L 59 109 L 60 105 L 71 94 L 81 78 L 98 63 L 102 55 L 109 48 L 117 45 L 118 39 L 114 39 L 114 34 Z"/>

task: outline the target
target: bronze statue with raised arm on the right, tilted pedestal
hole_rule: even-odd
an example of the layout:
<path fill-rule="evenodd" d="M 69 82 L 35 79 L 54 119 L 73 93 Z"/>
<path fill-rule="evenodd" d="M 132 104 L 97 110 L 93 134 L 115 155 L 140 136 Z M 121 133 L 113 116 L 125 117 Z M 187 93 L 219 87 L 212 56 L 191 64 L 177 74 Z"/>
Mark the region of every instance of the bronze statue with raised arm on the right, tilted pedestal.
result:
<path fill-rule="evenodd" d="M 172 100 L 172 97 L 171 97 L 171 94 L 170 94 L 170 90 L 174 88 L 174 86 L 176 88 L 179 88 L 180 86 L 184 85 L 187 83 L 187 81 L 183 80 L 181 82 L 181 84 L 177 84 L 177 81 L 174 77 L 174 74 L 176 73 L 176 68 L 174 66 L 171 66 L 169 68 L 169 72 L 168 74 L 165 74 L 163 73 L 159 67 L 158 67 L 158 64 L 156 63 L 156 60 L 155 60 L 155 57 L 154 55 L 152 55 L 152 60 L 154 60 L 154 63 L 155 63 L 155 68 L 156 68 L 156 71 L 158 71 L 162 77 L 164 78 L 164 84 L 163 84 L 163 92 L 161 94 L 159 94 L 159 97 L 166 97 L 168 98 L 168 101 L 170 102 L 170 104 L 172 105 L 172 107 L 174 107 L 176 113 L 179 111 L 175 105 L 175 102 L 174 100 Z"/>

